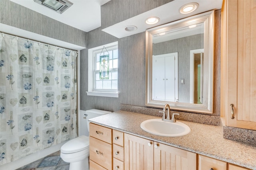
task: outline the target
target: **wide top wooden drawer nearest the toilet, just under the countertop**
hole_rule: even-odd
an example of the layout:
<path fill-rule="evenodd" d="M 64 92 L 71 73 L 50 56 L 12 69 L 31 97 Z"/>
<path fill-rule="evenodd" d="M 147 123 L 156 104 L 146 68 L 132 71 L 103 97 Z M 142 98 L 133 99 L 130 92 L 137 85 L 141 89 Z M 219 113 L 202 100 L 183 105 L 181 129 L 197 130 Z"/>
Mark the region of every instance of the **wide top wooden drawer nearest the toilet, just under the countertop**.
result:
<path fill-rule="evenodd" d="M 112 144 L 112 129 L 90 123 L 90 136 Z"/>

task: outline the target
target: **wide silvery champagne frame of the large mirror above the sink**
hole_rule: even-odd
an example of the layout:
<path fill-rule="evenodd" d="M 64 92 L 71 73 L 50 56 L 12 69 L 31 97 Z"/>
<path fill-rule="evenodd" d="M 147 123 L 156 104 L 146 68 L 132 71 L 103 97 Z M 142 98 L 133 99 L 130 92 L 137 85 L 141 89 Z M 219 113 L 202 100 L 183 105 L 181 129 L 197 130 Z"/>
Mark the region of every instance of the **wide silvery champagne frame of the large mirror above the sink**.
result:
<path fill-rule="evenodd" d="M 190 104 L 181 102 L 164 102 L 152 100 L 152 36 L 179 27 L 196 23 L 204 23 L 204 75 L 203 102 Z M 171 109 L 199 113 L 213 113 L 213 76 L 214 76 L 214 10 L 195 16 L 166 23 L 146 30 L 146 106 L 164 107 L 169 104 Z"/>

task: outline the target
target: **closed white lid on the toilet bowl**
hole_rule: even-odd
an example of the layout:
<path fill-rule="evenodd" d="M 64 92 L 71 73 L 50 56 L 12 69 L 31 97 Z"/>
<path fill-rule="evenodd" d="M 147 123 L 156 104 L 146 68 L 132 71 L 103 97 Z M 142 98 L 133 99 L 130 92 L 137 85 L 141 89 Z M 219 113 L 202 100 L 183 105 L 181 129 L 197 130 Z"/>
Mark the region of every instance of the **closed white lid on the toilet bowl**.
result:
<path fill-rule="evenodd" d="M 62 153 L 74 153 L 80 150 L 84 150 L 89 147 L 89 137 L 87 136 L 80 136 L 71 141 L 68 141 L 60 148 Z"/>

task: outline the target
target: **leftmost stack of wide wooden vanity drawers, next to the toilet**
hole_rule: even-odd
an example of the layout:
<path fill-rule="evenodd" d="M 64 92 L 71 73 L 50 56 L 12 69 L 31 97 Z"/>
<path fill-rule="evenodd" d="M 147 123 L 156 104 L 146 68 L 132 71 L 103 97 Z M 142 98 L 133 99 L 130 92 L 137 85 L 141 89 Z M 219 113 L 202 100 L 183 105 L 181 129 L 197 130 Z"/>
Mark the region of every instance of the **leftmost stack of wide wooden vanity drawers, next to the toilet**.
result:
<path fill-rule="evenodd" d="M 112 170 L 112 129 L 90 123 L 90 170 Z"/>

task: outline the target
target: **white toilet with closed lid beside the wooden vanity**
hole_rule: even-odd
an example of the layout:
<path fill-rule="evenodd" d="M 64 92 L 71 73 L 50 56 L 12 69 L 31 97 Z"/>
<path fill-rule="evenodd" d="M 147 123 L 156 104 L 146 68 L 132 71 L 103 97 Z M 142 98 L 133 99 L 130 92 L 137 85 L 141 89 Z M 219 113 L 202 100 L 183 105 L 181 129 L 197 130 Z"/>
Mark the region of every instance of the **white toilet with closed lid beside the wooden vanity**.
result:
<path fill-rule="evenodd" d="M 86 121 L 89 130 L 89 121 L 93 117 L 98 117 L 110 111 L 90 109 L 85 111 Z M 84 127 L 85 128 L 85 127 Z M 60 148 L 60 157 L 65 162 L 69 162 L 69 170 L 89 170 L 89 137 L 81 135 L 62 145 Z"/>

